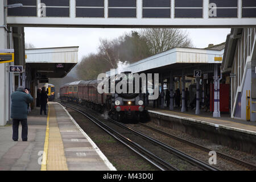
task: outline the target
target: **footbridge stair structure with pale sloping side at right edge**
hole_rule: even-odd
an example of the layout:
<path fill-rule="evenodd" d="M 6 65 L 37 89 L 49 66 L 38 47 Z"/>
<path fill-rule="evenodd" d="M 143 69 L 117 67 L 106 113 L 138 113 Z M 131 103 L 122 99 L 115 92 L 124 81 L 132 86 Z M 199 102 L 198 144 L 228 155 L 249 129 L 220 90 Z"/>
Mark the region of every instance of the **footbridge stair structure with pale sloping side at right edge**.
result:
<path fill-rule="evenodd" d="M 230 115 L 246 121 L 256 121 L 255 35 L 255 28 L 232 28 L 221 65 L 230 75 Z"/>

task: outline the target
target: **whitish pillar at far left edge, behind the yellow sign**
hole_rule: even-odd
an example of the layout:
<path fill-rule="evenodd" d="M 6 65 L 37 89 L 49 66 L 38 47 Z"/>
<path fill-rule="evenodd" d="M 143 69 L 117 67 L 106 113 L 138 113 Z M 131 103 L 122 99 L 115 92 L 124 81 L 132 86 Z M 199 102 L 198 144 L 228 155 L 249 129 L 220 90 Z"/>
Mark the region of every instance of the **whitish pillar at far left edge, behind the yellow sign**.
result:
<path fill-rule="evenodd" d="M 4 2 L 0 1 L 0 26 L 3 26 L 5 24 L 4 20 Z M 5 27 L 0 27 L 0 49 L 6 49 L 7 48 L 7 32 L 5 30 Z M 6 85 L 8 80 L 8 74 L 6 72 L 7 63 L 0 63 L 0 126 L 4 126 L 6 124 L 7 117 L 6 110 L 9 109 L 7 102 L 9 102 L 9 94 L 6 92 Z M 6 107 L 7 106 L 7 107 Z"/>

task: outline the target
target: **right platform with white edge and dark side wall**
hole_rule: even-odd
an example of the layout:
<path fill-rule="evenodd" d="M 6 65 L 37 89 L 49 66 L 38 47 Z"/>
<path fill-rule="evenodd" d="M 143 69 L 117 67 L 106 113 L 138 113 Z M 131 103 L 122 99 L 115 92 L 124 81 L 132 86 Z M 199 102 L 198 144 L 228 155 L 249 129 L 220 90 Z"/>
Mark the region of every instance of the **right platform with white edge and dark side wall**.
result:
<path fill-rule="evenodd" d="M 228 114 L 213 118 L 212 113 L 205 111 L 196 115 L 195 110 L 185 113 L 181 113 L 180 109 L 168 108 L 146 107 L 146 110 L 151 121 L 156 125 L 181 131 L 193 137 L 208 139 L 234 150 L 256 154 L 256 122 L 233 119 Z"/>

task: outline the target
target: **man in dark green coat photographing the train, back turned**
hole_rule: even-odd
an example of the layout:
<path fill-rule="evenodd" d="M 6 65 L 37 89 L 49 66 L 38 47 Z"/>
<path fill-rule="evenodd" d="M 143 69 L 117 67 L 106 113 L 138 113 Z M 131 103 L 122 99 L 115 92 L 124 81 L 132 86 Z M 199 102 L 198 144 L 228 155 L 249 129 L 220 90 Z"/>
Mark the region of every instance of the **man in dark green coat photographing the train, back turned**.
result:
<path fill-rule="evenodd" d="M 19 86 L 16 92 L 11 94 L 11 118 L 13 118 L 13 140 L 19 138 L 19 122 L 22 124 L 22 140 L 27 141 L 27 105 L 33 102 L 33 97 L 27 89 Z"/>

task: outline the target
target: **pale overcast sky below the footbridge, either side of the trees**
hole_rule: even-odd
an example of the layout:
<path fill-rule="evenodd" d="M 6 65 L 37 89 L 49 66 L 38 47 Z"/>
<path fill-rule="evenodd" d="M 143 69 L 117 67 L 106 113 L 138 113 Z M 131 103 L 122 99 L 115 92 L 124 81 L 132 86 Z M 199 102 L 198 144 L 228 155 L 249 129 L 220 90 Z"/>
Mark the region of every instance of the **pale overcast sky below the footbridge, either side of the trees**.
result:
<path fill-rule="evenodd" d="M 100 38 L 112 40 L 130 32 L 131 28 L 25 28 L 25 42 L 36 48 L 79 46 L 79 61 L 89 53 L 96 53 Z M 226 41 L 230 28 L 183 29 L 196 48 Z"/>

